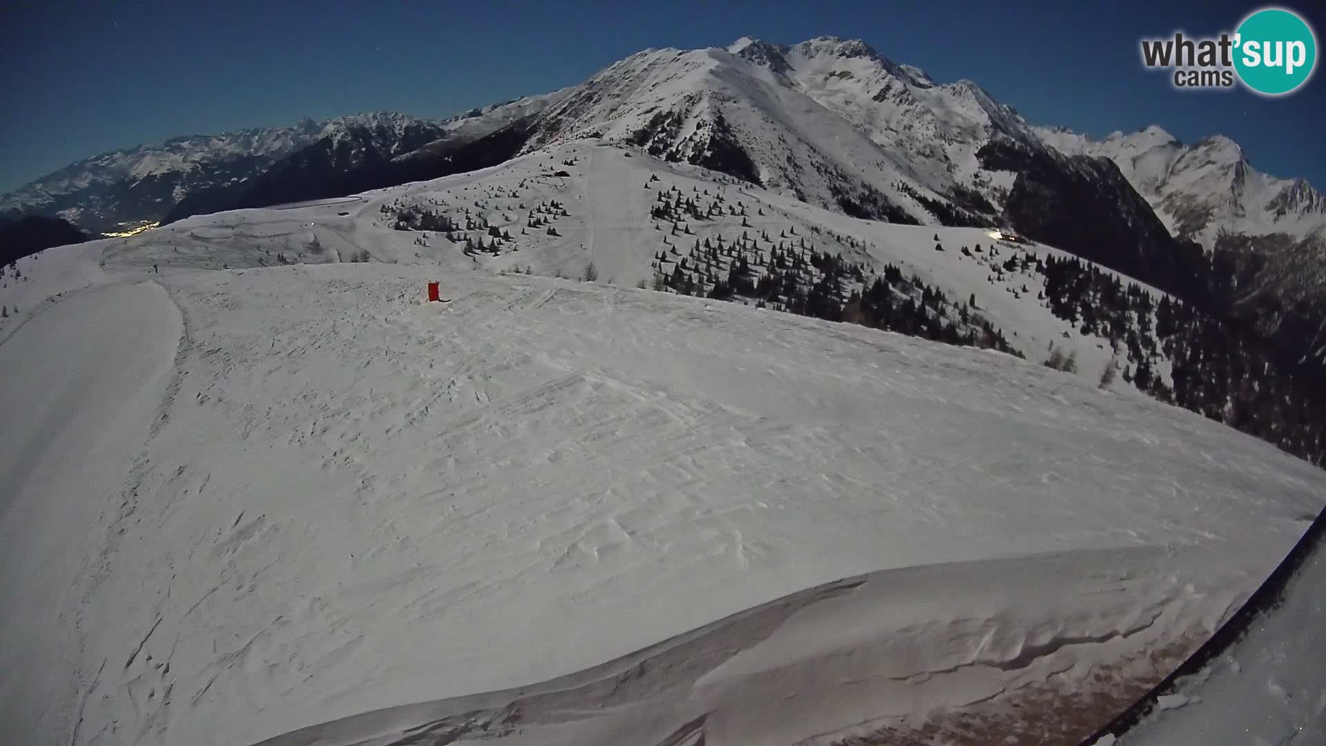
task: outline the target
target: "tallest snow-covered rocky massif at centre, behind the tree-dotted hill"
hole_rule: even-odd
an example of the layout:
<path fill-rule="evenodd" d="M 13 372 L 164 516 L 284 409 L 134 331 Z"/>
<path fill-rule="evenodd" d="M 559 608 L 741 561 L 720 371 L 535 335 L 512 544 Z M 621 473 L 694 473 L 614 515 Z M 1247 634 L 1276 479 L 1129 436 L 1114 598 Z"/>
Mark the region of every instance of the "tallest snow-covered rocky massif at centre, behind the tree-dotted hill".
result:
<path fill-rule="evenodd" d="M 814 204 L 891 222 L 993 224 L 1009 174 L 983 171 L 992 138 L 1038 141 L 969 81 L 935 85 L 862 41 L 648 49 L 575 86 L 526 151 L 598 135 L 713 167 Z M 971 191 L 969 191 L 971 190 Z"/>

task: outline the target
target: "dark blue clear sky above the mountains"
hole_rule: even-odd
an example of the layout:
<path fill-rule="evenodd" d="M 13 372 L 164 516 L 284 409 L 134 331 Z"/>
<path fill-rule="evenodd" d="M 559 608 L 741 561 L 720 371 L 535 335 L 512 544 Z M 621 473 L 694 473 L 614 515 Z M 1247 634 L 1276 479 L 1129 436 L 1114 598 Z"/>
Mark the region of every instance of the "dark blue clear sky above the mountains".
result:
<path fill-rule="evenodd" d="M 178 134 L 365 110 L 440 117 L 575 84 L 648 46 L 863 38 L 936 81 L 972 78 L 1038 123 L 1227 134 L 1253 165 L 1326 187 L 1326 76 L 1268 100 L 1177 93 L 1138 38 L 1211 35 L 1261 3 L 66 3 L 0 8 L 0 191 Z M 1285 7 L 1305 12 L 1319 0 Z M 1319 37 L 1326 12 L 1307 11 Z"/>

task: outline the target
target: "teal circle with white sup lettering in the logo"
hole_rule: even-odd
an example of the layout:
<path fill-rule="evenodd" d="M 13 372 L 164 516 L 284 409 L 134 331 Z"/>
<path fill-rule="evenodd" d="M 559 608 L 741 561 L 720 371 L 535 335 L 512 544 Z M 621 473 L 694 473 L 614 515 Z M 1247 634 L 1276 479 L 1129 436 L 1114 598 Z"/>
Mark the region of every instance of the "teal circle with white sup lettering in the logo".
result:
<path fill-rule="evenodd" d="M 1296 90 L 1317 66 L 1317 36 L 1297 13 L 1265 8 L 1235 32 L 1235 69 L 1244 85 L 1265 96 Z"/>

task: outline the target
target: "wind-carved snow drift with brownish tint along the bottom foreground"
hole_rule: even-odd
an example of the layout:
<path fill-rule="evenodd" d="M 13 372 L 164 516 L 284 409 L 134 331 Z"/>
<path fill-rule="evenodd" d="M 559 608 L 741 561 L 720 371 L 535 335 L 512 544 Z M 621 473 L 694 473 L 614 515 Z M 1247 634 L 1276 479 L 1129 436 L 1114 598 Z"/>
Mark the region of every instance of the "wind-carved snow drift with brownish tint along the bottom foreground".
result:
<path fill-rule="evenodd" d="M 469 735 L 549 745 L 911 742 L 920 733 L 984 743 L 992 731 L 1071 742 L 1095 713 L 1136 696 L 1140 681 L 1191 645 L 1158 645 L 1158 636 L 1168 634 L 1162 629 L 1209 632 L 1209 620 L 1189 616 L 1205 605 L 1203 593 L 1189 588 L 1175 596 L 1160 567 L 1176 558 L 1162 556 L 1159 550 L 1067 552 L 843 579 L 585 672 L 365 713 L 261 746 Z M 1128 593 L 1111 573 L 1069 577 L 1082 567 L 1139 564 L 1148 569 L 1130 579 Z M 1045 584 L 1009 592 L 998 580 L 1033 575 Z M 983 583 L 1000 591 L 979 588 Z M 960 595 L 948 601 L 964 609 L 957 616 L 945 616 L 937 597 L 945 592 Z M 1029 607 L 1036 612 L 1026 613 Z M 972 608 L 985 616 L 965 616 Z M 1049 621 L 1037 615 L 1065 612 L 1075 619 L 1037 628 Z M 1048 686 L 1052 677 L 1061 680 Z M 1024 719 L 1052 708 L 1057 722 Z"/>

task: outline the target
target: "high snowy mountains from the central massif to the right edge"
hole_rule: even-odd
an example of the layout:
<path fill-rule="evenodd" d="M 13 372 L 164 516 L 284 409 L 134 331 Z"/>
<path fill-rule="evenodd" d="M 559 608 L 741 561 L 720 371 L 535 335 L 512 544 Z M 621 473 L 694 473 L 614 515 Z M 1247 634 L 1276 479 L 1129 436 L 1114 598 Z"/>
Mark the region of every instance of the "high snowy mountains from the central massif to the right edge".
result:
<path fill-rule="evenodd" d="M 725 48 L 647 49 L 544 110 L 524 151 L 585 137 L 876 220 L 1024 222 L 1046 230 L 1045 239 L 1063 238 L 1034 203 L 1075 191 L 1107 206 L 1091 220 L 1113 223 L 1083 226 L 1083 235 L 1114 232 L 1147 244 L 1142 255 L 1175 254 L 1172 239 L 1209 251 L 1225 234 L 1326 235 L 1321 192 L 1256 171 L 1225 137 L 1184 146 L 1159 126 L 1105 141 L 1037 126 L 969 80 L 936 84 L 861 40 L 743 37 Z M 1073 203 L 1058 207 L 1071 212 Z M 1058 218 L 1083 222 L 1075 212 Z"/>

